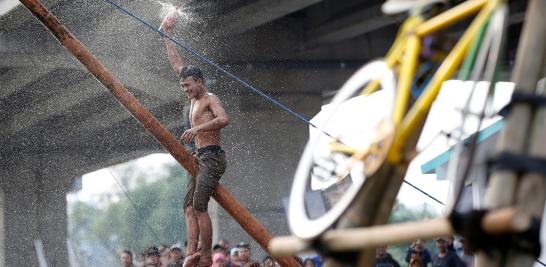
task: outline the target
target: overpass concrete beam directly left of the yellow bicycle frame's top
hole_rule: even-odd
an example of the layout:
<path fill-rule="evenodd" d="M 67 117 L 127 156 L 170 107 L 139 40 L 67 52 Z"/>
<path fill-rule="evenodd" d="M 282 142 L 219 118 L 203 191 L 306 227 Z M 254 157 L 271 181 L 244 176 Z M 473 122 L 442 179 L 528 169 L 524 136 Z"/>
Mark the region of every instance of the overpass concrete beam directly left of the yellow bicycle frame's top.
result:
<path fill-rule="evenodd" d="M 384 16 L 381 12 L 381 5 L 375 5 L 312 30 L 307 36 L 307 40 L 310 44 L 336 43 L 400 21 L 402 21 L 400 18 Z"/>

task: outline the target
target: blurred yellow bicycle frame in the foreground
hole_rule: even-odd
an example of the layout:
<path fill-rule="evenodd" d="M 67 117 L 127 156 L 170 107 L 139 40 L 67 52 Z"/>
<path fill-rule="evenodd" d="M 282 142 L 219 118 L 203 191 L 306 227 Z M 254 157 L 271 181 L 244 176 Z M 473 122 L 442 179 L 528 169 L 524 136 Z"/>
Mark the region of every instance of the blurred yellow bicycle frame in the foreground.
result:
<path fill-rule="evenodd" d="M 385 57 L 385 62 L 390 68 L 396 67 L 399 70 L 397 94 L 392 115 L 396 130 L 393 145 L 387 155 L 388 162 L 397 164 L 403 159 L 404 145 L 409 136 L 426 117 L 442 83 L 449 79 L 459 67 L 480 26 L 487 21 L 500 1 L 470 0 L 426 21 L 419 16 L 412 16 L 404 22 L 393 46 Z M 421 38 L 478 11 L 480 13 L 435 72 L 423 94 L 406 114 L 410 86 L 418 63 L 419 51 L 421 50 Z M 377 88 L 377 84 L 370 83 L 363 90 L 363 94 L 369 94 L 375 88 Z"/>

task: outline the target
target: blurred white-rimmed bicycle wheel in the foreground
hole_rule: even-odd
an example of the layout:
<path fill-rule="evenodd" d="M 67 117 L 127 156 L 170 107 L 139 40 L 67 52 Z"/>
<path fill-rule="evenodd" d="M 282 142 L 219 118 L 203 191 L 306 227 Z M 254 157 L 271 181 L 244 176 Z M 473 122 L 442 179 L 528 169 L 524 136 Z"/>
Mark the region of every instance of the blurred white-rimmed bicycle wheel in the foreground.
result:
<path fill-rule="evenodd" d="M 359 96 L 372 80 L 380 80 L 381 90 Z M 380 156 L 371 150 L 389 146 L 377 144 L 378 136 L 392 133 L 394 96 L 394 73 L 375 61 L 360 68 L 313 118 L 321 131 L 310 130 L 290 192 L 288 223 L 294 235 L 311 239 L 332 226 L 378 167 Z"/>

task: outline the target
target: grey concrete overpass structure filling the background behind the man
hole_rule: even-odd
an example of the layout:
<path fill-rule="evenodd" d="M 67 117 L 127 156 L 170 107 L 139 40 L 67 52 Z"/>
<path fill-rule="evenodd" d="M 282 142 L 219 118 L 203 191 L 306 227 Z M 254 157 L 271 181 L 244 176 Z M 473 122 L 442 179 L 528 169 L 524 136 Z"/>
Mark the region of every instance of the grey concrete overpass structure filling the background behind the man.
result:
<path fill-rule="evenodd" d="M 159 25 L 158 3 L 122 3 Z M 191 19 L 178 29 L 181 40 L 307 117 L 357 66 L 386 52 L 400 21 L 383 16 L 375 0 L 184 3 Z M 156 34 L 103 1 L 44 4 L 169 130 L 181 133 L 185 99 Z M 513 5 L 517 36 L 525 3 Z M 509 47 L 511 53 L 515 42 Z M 307 126 L 185 55 L 205 69 L 232 117 L 222 183 L 273 234 L 286 234 L 281 198 Z M 50 266 L 66 266 L 65 195 L 73 179 L 162 151 L 20 6 L 0 17 L 0 126 L 0 266 L 37 265 L 33 240 L 43 241 Z M 245 239 L 223 211 L 214 220 L 219 237 Z"/>

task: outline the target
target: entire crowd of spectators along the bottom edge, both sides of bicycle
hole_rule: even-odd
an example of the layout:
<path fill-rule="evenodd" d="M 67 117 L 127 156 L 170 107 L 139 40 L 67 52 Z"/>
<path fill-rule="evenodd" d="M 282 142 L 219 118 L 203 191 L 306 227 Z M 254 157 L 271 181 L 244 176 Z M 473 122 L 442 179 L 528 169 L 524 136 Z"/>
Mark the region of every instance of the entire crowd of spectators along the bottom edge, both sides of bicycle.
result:
<path fill-rule="evenodd" d="M 464 240 L 453 244 L 452 238 L 438 237 L 435 240 L 436 251 L 431 253 L 425 247 L 425 241 L 417 239 L 406 250 L 405 263 L 400 264 L 389 253 L 386 247 L 376 249 L 374 267 L 472 267 L 473 257 L 465 251 Z M 186 244 L 185 244 L 186 246 Z M 185 249 L 184 246 L 184 249 Z M 133 253 L 124 250 L 120 253 L 123 267 L 181 267 L 184 263 L 184 250 L 178 245 L 150 247 L 133 257 Z M 322 258 L 295 258 L 304 267 L 322 267 Z M 271 256 L 261 261 L 252 258 L 250 244 L 240 242 L 230 247 L 229 242 L 220 240 L 212 248 L 211 267 L 277 267 L 280 266 Z"/>

